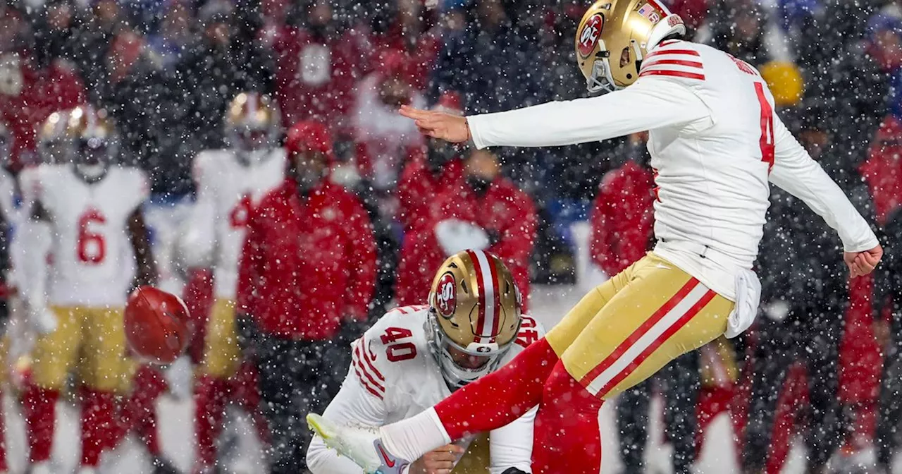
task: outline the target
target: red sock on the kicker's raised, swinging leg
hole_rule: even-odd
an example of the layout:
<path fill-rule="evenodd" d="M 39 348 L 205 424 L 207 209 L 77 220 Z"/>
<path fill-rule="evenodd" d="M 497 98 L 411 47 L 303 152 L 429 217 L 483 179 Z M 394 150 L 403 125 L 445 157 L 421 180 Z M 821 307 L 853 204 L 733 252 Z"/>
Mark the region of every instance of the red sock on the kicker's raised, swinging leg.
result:
<path fill-rule="evenodd" d="M 542 387 L 555 364 L 554 349 L 539 339 L 504 367 L 439 402 L 438 419 L 452 440 L 511 423 L 542 400 Z"/>

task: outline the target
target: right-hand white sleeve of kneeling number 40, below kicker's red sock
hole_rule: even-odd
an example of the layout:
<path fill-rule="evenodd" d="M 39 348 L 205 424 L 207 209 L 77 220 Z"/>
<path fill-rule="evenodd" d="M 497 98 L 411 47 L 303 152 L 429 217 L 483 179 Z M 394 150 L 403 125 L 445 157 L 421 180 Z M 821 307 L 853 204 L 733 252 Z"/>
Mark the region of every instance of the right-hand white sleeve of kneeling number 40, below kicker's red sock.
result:
<path fill-rule="evenodd" d="M 512 423 L 489 433 L 489 474 L 502 474 L 507 469 L 517 468 L 532 472 L 532 428 L 536 421 L 533 407 Z"/>

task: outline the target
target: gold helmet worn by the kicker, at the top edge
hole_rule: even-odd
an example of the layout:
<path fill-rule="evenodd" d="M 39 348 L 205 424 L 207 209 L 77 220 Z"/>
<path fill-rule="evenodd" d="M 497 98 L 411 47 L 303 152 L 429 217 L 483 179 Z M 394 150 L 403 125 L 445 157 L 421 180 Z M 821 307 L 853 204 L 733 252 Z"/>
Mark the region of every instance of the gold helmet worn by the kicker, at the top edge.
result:
<path fill-rule="evenodd" d="M 598 0 L 576 28 L 576 63 L 589 92 L 610 92 L 639 79 L 647 51 L 686 34 L 683 20 L 659 0 Z"/>

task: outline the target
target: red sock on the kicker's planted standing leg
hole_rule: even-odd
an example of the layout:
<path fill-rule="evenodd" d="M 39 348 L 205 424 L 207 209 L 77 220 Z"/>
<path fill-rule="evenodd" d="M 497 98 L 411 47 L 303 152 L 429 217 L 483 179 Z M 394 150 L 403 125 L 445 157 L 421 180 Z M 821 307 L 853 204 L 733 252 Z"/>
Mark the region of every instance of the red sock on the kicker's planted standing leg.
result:
<path fill-rule="evenodd" d="M 602 403 L 567 373 L 563 363 L 557 362 L 545 383 L 536 415 L 532 472 L 598 474 L 602 466 L 598 428 Z"/>

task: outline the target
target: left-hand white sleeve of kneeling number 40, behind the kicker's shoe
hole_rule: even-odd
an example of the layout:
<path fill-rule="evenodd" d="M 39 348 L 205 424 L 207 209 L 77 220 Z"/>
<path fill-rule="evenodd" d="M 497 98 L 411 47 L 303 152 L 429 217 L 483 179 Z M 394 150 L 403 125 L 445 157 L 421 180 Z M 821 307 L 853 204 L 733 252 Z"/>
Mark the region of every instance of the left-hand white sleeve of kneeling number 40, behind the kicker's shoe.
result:
<path fill-rule="evenodd" d="M 365 424 L 382 426 L 385 424 L 385 405 L 382 400 L 370 395 L 352 374 L 354 366 L 345 376 L 338 395 L 332 399 L 323 417 L 339 424 Z M 307 467 L 313 474 L 362 474 L 364 469 L 326 446 L 319 436 L 314 436 L 307 449 Z"/>

